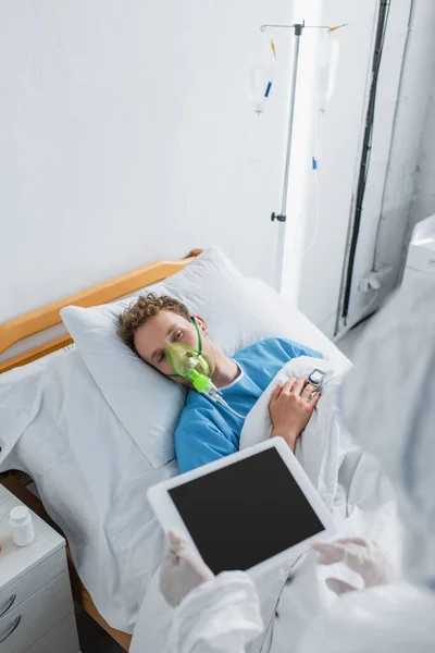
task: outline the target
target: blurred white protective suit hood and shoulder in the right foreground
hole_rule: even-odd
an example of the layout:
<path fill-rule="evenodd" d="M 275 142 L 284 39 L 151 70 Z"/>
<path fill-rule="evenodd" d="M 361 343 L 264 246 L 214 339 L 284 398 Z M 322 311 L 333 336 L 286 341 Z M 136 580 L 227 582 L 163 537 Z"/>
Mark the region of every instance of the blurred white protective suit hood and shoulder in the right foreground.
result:
<path fill-rule="evenodd" d="M 343 420 L 397 493 L 402 580 L 341 596 L 298 653 L 435 651 L 435 283 L 399 291 L 373 318 L 343 384 Z M 363 403 L 361 402 L 363 397 Z"/>

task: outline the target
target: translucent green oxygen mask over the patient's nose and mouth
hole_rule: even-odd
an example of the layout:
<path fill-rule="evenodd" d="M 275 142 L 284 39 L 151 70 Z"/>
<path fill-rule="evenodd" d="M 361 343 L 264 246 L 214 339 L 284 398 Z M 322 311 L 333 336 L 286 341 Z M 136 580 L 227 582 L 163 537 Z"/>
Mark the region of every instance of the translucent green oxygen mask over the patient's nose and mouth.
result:
<path fill-rule="evenodd" d="M 210 365 L 198 349 L 184 343 L 171 343 L 164 355 L 175 372 L 171 377 L 188 379 L 197 392 L 209 393 L 213 389 Z"/>

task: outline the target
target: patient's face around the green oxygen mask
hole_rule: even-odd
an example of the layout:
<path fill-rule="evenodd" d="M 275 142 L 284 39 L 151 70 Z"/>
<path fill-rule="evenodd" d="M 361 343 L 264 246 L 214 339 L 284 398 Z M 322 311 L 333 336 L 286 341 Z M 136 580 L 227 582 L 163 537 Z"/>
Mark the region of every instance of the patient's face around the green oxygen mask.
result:
<path fill-rule="evenodd" d="M 203 353 L 211 362 L 213 371 L 213 355 L 210 342 L 206 340 L 209 333 L 206 322 L 196 317 L 201 331 Z M 195 324 L 182 316 L 169 310 L 161 310 L 157 316 L 139 326 L 135 333 L 135 347 L 140 358 L 163 374 L 173 374 L 174 370 L 164 356 L 164 349 L 173 342 L 181 342 L 191 347 L 198 347 L 198 334 Z M 174 378 L 177 383 L 190 385 L 184 379 Z"/>

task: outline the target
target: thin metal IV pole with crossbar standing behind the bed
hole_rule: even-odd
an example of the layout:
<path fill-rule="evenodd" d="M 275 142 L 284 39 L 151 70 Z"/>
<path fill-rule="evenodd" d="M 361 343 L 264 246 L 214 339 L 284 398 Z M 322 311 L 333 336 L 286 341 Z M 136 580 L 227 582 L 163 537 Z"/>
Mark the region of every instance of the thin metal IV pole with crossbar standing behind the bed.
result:
<path fill-rule="evenodd" d="M 288 182 L 289 182 L 289 177 L 290 177 L 291 140 L 293 140 L 293 131 L 294 131 L 294 122 L 295 122 L 296 85 L 297 85 L 297 81 L 298 81 L 300 37 L 302 36 L 303 29 L 327 29 L 328 32 L 334 32 L 335 29 L 338 29 L 338 27 L 344 27 L 344 25 L 337 25 L 335 27 L 331 27 L 331 26 L 326 26 L 326 25 L 306 25 L 304 21 L 302 21 L 302 23 L 295 23 L 293 25 L 261 25 L 261 27 L 260 27 L 261 32 L 264 32 L 265 29 L 270 29 L 270 28 L 271 29 L 293 28 L 294 34 L 295 34 L 291 84 L 290 84 L 290 107 L 289 107 L 289 111 L 288 111 L 287 148 L 286 148 L 286 156 L 285 156 L 285 169 L 284 169 L 283 195 L 282 195 L 282 201 L 281 201 L 281 213 L 273 212 L 271 214 L 272 222 L 274 222 L 276 220 L 279 223 L 278 252 L 277 252 L 277 261 L 276 261 L 276 280 L 275 280 L 275 286 L 278 292 L 281 289 L 281 280 L 283 276 L 285 222 L 287 220 L 286 208 L 287 208 Z"/>

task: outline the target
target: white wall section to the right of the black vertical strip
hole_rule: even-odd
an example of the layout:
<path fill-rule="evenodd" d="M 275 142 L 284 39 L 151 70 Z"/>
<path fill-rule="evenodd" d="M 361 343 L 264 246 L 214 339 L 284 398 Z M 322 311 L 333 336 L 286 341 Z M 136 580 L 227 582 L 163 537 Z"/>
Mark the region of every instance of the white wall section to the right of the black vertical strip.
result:
<path fill-rule="evenodd" d="M 373 268 L 380 220 L 374 264 L 376 269 L 389 267 L 390 271 L 383 278 L 381 291 L 377 298 L 374 298 L 373 306 L 378 306 L 401 279 L 403 252 L 409 242 L 407 234 L 411 206 L 417 192 L 418 170 L 419 165 L 422 165 L 422 145 L 427 152 L 425 143 L 430 134 L 427 127 L 424 128 L 424 119 L 433 93 L 435 2 L 414 0 L 409 45 L 403 61 L 402 84 L 398 96 L 409 15 L 410 0 L 391 2 L 376 98 L 369 178 L 353 271 L 350 320 L 374 297 L 373 292 L 368 294 L 359 292 L 358 284 L 360 279 Z M 397 115 L 394 126 L 395 112 Z M 430 176 L 431 167 L 426 165 L 426 161 L 424 168 L 427 169 L 425 174 Z M 422 180 L 422 202 L 425 201 L 426 192 L 431 193 L 428 184 Z"/>

